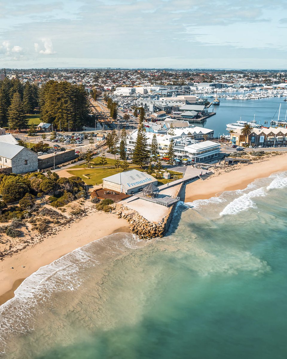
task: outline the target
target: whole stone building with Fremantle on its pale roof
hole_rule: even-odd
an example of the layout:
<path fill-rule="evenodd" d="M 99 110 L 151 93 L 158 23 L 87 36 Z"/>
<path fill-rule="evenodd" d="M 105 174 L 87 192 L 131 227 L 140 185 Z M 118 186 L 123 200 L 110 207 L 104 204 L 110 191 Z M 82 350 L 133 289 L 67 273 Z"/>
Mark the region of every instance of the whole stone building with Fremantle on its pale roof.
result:
<path fill-rule="evenodd" d="M 153 183 L 156 186 L 157 179 L 137 169 L 131 169 L 130 171 L 103 178 L 103 188 L 127 195 L 139 192 L 149 183 Z"/>

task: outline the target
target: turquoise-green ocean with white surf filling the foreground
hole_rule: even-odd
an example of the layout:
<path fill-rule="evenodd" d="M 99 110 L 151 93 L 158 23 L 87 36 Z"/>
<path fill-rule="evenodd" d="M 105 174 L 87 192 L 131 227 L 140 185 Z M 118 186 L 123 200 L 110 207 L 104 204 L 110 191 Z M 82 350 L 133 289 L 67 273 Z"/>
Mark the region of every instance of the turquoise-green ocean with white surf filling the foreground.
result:
<path fill-rule="evenodd" d="M 0 307 L 3 358 L 285 359 L 286 188 L 180 202 L 165 238 L 113 234 L 39 269 Z"/>

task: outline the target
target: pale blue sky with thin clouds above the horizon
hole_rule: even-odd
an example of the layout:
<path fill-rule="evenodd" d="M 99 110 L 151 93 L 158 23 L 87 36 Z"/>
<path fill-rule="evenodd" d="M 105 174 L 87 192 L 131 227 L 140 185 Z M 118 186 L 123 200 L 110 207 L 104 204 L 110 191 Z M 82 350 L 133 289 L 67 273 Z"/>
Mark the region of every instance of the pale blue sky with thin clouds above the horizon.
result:
<path fill-rule="evenodd" d="M 0 67 L 287 69 L 287 0 L 0 0 Z"/>

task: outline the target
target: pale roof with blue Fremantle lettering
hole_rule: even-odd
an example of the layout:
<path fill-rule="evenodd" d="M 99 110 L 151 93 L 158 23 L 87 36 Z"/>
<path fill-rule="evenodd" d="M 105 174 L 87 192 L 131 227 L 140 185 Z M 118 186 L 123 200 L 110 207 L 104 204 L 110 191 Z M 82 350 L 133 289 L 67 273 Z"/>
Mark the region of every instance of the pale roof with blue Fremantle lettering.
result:
<path fill-rule="evenodd" d="M 157 182 L 150 174 L 138 171 L 137 169 L 113 174 L 113 176 L 103 178 L 103 180 L 117 183 L 124 188 L 136 188 L 142 186 L 144 183 Z"/>

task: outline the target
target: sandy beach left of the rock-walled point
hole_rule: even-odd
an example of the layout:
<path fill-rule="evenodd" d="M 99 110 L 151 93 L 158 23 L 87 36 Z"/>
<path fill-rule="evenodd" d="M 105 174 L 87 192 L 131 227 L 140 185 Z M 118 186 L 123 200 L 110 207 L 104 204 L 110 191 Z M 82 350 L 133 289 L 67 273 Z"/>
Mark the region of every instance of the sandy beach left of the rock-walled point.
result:
<path fill-rule="evenodd" d="M 59 228 L 56 234 L 4 258 L 0 262 L 0 304 L 14 296 L 14 290 L 40 267 L 96 239 L 119 232 L 130 232 L 127 221 L 116 214 L 92 212 Z M 11 269 L 13 267 L 14 269 Z"/>

